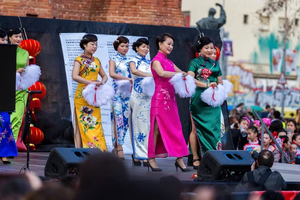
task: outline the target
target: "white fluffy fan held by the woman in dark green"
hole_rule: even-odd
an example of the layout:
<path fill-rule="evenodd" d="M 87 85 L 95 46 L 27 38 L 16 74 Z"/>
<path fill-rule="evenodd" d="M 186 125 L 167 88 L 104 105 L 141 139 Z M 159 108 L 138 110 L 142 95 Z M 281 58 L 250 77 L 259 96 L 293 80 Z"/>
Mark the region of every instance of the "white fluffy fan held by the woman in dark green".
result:
<path fill-rule="evenodd" d="M 201 93 L 201 99 L 208 105 L 212 107 L 220 106 L 225 100 L 225 88 L 223 85 L 218 84 L 217 87 L 214 87 L 214 99 L 212 99 L 213 88 L 208 87 Z"/>

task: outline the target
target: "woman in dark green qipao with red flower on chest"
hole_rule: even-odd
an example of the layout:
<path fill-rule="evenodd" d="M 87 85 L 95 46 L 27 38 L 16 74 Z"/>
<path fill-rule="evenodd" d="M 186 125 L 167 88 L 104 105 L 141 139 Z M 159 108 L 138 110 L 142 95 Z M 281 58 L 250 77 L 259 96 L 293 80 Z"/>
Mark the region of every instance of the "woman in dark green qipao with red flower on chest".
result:
<path fill-rule="evenodd" d="M 222 72 L 218 62 L 210 59 L 214 52 L 214 42 L 208 36 L 199 39 L 196 45 L 200 51 L 199 57 L 190 61 L 187 74 L 195 78 L 196 92 L 190 98 L 189 110 L 194 123 L 195 131 L 190 134 L 189 153 L 192 162 L 198 162 L 207 150 L 220 150 L 220 121 L 221 106 L 212 107 L 201 100 L 201 93 L 208 87 L 222 82 Z M 196 143 L 199 145 L 196 145 Z M 198 164 L 194 165 L 194 168 Z"/>

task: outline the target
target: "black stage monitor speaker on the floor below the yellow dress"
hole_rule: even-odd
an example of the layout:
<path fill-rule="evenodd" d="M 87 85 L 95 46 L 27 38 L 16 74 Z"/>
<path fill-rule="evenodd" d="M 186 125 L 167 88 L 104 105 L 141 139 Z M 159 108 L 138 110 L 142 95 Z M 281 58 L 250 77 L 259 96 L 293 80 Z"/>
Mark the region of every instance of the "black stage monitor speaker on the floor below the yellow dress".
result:
<path fill-rule="evenodd" d="M 65 174 L 78 174 L 79 164 L 99 152 L 102 152 L 99 148 L 53 148 L 45 165 L 45 176 L 59 178 Z"/>

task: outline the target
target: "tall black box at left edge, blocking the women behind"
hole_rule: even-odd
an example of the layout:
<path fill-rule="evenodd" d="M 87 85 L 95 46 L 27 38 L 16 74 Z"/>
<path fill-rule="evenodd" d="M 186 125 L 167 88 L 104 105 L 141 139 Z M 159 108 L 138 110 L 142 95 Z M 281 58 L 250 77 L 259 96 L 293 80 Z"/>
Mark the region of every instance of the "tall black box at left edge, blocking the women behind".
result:
<path fill-rule="evenodd" d="M 0 111 L 2 112 L 15 110 L 16 48 L 16 44 L 0 44 L 0 85 L 3 86 Z"/>

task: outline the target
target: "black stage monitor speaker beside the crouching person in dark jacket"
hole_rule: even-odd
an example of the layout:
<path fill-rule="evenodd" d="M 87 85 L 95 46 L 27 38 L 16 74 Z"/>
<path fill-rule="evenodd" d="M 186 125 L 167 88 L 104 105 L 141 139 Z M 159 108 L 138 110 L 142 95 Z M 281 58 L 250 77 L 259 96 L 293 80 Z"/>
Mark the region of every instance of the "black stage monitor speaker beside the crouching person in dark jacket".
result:
<path fill-rule="evenodd" d="M 208 150 L 200 161 L 197 176 L 201 180 L 240 181 L 253 162 L 251 153 L 245 150 Z"/>

